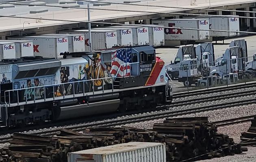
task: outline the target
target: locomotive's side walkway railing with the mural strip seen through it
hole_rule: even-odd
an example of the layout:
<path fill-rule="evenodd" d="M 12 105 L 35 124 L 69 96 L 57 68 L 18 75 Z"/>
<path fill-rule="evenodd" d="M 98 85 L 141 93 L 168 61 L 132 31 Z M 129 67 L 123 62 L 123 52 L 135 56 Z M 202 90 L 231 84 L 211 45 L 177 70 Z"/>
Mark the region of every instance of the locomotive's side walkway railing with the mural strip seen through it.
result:
<path fill-rule="evenodd" d="M 123 68 L 122 72 L 125 73 L 125 66 L 132 64 L 138 64 L 137 74 L 139 75 L 139 62 L 121 64 L 117 70 L 115 76 L 104 77 L 99 79 L 89 79 L 82 81 L 73 81 L 67 83 L 58 83 L 54 85 L 43 85 L 38 87 L 27 87 L 16 90 L 7 90 L 4 92 L 4 101 L 6 107 L 10 107 L 11 104 L 28 104 L 36 102 L 46 102 L 51 100 L 61 100 L 64 98 L 82 97 L 94 94 L 104 94 L 104 92 L 114 91 L 114 80 L 118 77 L 118 74 Z M 131 76 L 131 71 L 128 75 L 121 77 Z M 111 82 L 106 84 L 105 82 Z M 82 85 L 82 88 L 81 88 Z M 107 85 L 107 86 L 105 86 Z M 105 88 L 104 88 L 105 87 Z M 99 89 L 97 89 L 99 88 Z M 80 91 L 82 89 L 82 91 Z"/>

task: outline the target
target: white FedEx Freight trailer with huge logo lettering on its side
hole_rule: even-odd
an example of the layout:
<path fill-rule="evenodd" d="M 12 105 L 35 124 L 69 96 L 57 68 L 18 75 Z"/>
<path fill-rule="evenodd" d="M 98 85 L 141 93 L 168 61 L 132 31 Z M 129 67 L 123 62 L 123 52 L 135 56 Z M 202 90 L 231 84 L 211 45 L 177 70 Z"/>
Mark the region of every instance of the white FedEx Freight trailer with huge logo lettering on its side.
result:
<path fill-rule="evenodd" d="M 186 30 L 165 28 L 166 40 L 207 40 L 209 39 L 209 19 L 161 19 L 153 20 L 154 25 L 163 25 L 165 27 L 193 28 L 203 30 Z"/>

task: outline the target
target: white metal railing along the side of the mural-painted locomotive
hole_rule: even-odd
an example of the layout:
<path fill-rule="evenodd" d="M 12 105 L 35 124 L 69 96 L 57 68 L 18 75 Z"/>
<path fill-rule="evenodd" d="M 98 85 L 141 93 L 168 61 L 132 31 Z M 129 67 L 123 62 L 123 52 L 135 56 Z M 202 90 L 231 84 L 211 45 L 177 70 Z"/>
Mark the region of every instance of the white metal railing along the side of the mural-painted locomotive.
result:
<path fill-rule="evenodd" d="M 68 83 L 59 83 L 59 84 L 54 84 L 54 85 L 43 85 L 43 86 L 38 86 L 38 87 L 27 87 L 27 88 L 21 88 L 21 89 L 16 89 L 16 90 L 7 90 L 4 92 L 4 102 L 6 104 L 6 106 L 9 104 L 11 104 L 11 94 L 12 95 L 15 95 L 15 92 L 17 92 L 17 102 L 13 102 L 13 103 L 17 103 L 17 105 L 19 105 L 20 101 L 19 101 L 19 92 L 24 92 L 24 101 L 22 102 L 27 102 L 28 101 L 33 101 L 34 100 L 34 103 L 36 100 L 39 100 L 39 99 L 43 99 L 43 101 L 45 102 L 47 98 L 53 98 L 53 100 L 56 98 L 56 97 L 63 97 L 63 99 L 65 98 L 65 96 L 70 96 L 72 95 L 71 92 L 69 94 L 66 94 L 66 90 L 65 90 L 65 85 L 72 85 L 73 86 L 73 95 L 75 97 L 76 94 L 83 94 L 83 96 L 85 96 L 85 93 L 87 93 L 87 91 L 85 90 L 85 85 L 90 85 L 90 83 L 92 83 L 92 85 L 89 86 L 89 89 L 93 89 L 93 94 L 95 93 L 95 89 L 94 89 L 94 83 L 95 81 L 101 81 L 101 86 L 102 86 L 102 92 L 104 93 L 104 79 L 111 79 L 112 81 L 112 87 L 111 89 L 105 89 L 105 90 L 114 90 L 114 82 L 113 80 L 118 76 L 118 73 L 121 69 L 121 67 L 123 67 L 123 72 L 125 72 L 124 70 L 124 67 L 127 66 L 127 65 L 132 65 L 132 64 L 138 64 L 138 67 L 137 67 L 137 72 L 139 72 L 139 62 L 134 62 L 134 63 L 125 63 L 125 64 L 121 64 L 120 67 L 118 68 L 117 70 L 117 74 L 115 76 L 112 76 L 112 77 L 104 77 L 104 78 L 99 78 L 99 79 L 90 79 L 90 80 L 82 80 L 82 81 L 73 81 L 73 82 L 68 82 Z M 130 69 L 130 75 L 131 75 L 131 72 L 132 70 Z M 123 75 L 122 77 L 125 77 L 125 76 L 130 76 L 130 75 Z M 139 73 L 137 73 L 137 75 L 139 75 Z M 77 83 L 77 86 L 79 84 L 79 89 L 80 89 L 80 83 L 82 83 L 83 85 L 83 92 L 76 92 L 75 90 L 75 83 Z M 85 84 L 86 83 L 86 84 Z M 89 84 L 88 84 L 89 83 Z M 76 86 L 76 89 L 78 89 L 78 87 Z M 62 94 L 58 94 L 58 88 L 63 88 L 63 93 Z M 40 97 L 40 96 L 36 96 L 36 93 L 37 90 L 39 90 L 41 92 L 41 90 L 43 89 L 43 97 L 41 96 L 41 98 L 37 98 L 37 97 Z M 46 92 L 48 90 L 46 89 L 50 89 L 50 93 L 53 93 L 52 95 L 48 96 L 46 95 Z M 52 89 L 52 90 L 51 90 Z M 56 90 L 55 90 L 56 89 Z M 100 89 L 101 90 L 101 89 Z M 100 91 L 99 90 L 99 91 Z M 31 91 L 33 94 L 31 95 L 31 98 L 28 98 L 28 95 L 26 94 L 27 91 Z M 88 92 L 91 92 L 91 91 L 88 91 Z M 9 100 L 7 100 L 7 94 L 9 95 L 8 98 Z M 15 97 L 13 97 L 14 99 Z"/>

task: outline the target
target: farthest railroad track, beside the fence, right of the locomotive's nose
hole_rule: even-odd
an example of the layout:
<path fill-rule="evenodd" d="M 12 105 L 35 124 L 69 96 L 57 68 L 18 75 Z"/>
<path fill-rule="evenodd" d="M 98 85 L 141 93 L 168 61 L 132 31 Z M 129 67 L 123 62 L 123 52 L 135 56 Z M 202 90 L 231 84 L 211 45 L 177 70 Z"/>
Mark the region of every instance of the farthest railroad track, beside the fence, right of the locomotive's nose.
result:
<path fill-rule="evenodd" d="M 173 94 L 173 98 L 194 96 L 194 95 L 199 95 L 199 94 L 209 94 L 209 93 L 222 92 L 222 91 L 227 91 L 227 90 L 237 90 L 240 88 L 249 88 L 249 87 L 256 87 L 256 83 L 252 82 L 252 83 L 239 84 L 239 85 L 229 85 L 228 87 L 221 86 L 221 87 L 211 87 L 209 89 L 204 88 L 201 90 L 194 90 L 194 91 L 189 91 L 189 92 L 178 92 L 178 93 Z"/>

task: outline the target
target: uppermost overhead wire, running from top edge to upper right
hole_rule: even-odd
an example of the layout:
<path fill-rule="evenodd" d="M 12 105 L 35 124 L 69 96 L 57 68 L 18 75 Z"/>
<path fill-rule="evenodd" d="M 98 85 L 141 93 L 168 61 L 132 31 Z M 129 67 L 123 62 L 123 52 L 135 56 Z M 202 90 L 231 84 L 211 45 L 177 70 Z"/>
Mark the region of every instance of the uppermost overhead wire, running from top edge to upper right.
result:
<path fill-rule="evenodd" d="M 90 0 L 73 0 L 73 1 L 82 1 L 82 2 L 91 2 Z M 189 10 L 205 10 L 205 11 L 228 11 L 228 12 L 241 12 L 241 13 L 256 13 L 256 11 L 240 11 L 240 10 L 221 10 L 221 9 L 205 9 L 205 8 L 189 8 L 189 7 L 169 7 L 169 6 L 158 6 L 158 5 L 149 5 L 149 4 L 131 4 L 131 3 L 118 3 L 118 2 L 104 2 L 100 1 L 99 3 L 106 3 L 106 4 L 123 4 L 123 5 L 130 5 L 130 6 L 145 6 L 145 7 L 160 7 L 160 8 L 169 8 L 169 9 L 189 9 Z"/>

